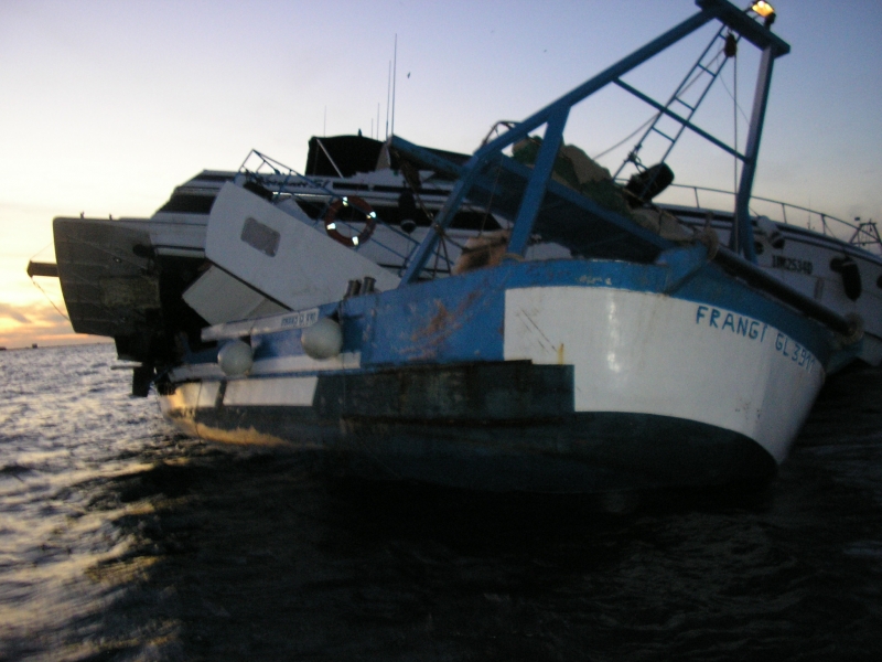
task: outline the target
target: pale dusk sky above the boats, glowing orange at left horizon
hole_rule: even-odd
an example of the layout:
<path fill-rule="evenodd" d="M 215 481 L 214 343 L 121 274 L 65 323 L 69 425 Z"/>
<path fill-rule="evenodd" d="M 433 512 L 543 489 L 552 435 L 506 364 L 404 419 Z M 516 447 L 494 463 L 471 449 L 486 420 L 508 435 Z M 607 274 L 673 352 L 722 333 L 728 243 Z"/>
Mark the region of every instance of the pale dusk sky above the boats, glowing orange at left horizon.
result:
<path fill-rule="evenodd" d="M 882 2 L 773 4 L 792 52 L 775 64 L 754 193 L 882 221 Z M 495 121 L 528 117 L 696 11 L 691 0 L 3 0 L 0 346 L 98 340 L 56 310 L 57 280 L 25 274 L 29 259 L 54 260 L 53 217 L 147 217 L 175 185 L 236 170 L 251 149 L 302 170 L 311 136 L 385 138 L 396 39 L 395 132 L 471 152 Z M 626 79 L 664 102 L 712 34 Z M 731 143 L 734 114 L 742 149 L 757 62 L 742 45 L 696 116 Z M 564 140 L 595 156 L 652 115 L 605 90 L 573 109 Z M 614 171 L 628 145 L 602 164 Z M 677 182 L 732 186 L 732 158 L 691 137 L 670 163 Z"/>

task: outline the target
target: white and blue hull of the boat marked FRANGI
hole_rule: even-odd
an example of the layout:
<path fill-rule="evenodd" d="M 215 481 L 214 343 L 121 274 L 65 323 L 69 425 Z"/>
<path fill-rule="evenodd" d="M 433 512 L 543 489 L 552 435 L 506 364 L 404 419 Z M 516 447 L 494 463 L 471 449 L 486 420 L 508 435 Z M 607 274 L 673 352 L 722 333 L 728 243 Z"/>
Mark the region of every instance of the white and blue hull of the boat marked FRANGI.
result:
<path fill-rule="evenodd" d="M 665 293 L 667 271 L 518 264 L 357 297 L 337 310 L 338 356 L 310 359 L 280 323 L 250 335 L 247 376 L 179 367 L 163 413 L 207 439 L 470 489 L 766 480 L 824 383 L 829 332 L 714 267 Z"/>

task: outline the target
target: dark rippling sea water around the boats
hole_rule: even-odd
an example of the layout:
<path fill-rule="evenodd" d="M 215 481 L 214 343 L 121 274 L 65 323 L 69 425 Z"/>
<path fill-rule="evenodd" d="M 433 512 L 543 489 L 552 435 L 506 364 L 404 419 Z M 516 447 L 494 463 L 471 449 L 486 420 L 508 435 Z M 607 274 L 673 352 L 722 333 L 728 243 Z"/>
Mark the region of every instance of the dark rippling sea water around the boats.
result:
<path fill-rule="evenodd" d="M 0 352 L 2 660 L 882 659 L 882 371 L 768 488 L 613 514 L 189 439 L 112 363 Z"/>

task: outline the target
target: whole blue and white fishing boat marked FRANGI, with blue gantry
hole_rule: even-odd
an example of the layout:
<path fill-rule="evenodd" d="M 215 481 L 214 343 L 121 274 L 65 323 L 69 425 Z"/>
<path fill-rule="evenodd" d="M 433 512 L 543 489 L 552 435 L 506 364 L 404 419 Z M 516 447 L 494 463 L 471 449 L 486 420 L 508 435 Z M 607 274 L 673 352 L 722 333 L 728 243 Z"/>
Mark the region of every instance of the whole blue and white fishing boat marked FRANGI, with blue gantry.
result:
<path fill-rule="evenodd" d="M 260 167 L 216 174 L 203 195 L 201 246 L 198 232 L 171 246 L 117 222 L 127 279 L 76 300 L 65 290 L 68 309 L 109 301 L 153 311 L 100 324 L 129 324 L 108 334 L 121 356 L 141 361 L 137 389 L 152 382 L 163 414 L 207 439 L 321 448 L 357 473 L 481 490 L 766 480 L 826 374 L 861 353 L 863 321 L 757 265 L 749 203 L 773 64 L 789 46 L 767 20 L 724 0 L 697 4 L 467 159 L 394 136 L 389 164 L 413 194 L 389 191 L 397 225 L 378 223 L 366 203 L 366 192 L 384 193 L 383 168 L 348 177 L 362 189 L 334 191 L 320 233 L 304 181 L 322 196 L 327 182 L 254 152 Z M 662 167 L 641 169 L 624 204 L 613 181 L 582 186 L 556 174 L 573 105 L 611 84 L 648 99 L 622 76 L 712 21 L 722 25 L 714 40 L 736 35 L 762 52 L 746 149 L 728 149 L 743 168 L 725 245 L 712 227 L 721 220 L 693 232 L 652 203 Z M 531 156 L 517 158 L 526 148 Z M 437 213 L 426 214 L 424 174 L 448 182 Z M 404 214 L 412 203 L 430 224 Z M 498 227 L 456 228 L 463 212 Z M 761 228 L 773 247 L 774 227 Z M 153 265 L 187 259 L 211 266 L 164 291 L 151 281 Z M 172 306 L 186 306 L 191 322 Z M 131 351 L 119 338 L 136 338 Z"/>

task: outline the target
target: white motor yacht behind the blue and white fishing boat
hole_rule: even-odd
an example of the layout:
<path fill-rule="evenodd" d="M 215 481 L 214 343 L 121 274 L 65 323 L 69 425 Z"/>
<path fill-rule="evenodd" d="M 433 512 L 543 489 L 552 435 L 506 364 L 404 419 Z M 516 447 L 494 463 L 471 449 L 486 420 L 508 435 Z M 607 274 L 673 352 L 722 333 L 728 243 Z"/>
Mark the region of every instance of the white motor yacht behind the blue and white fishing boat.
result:
<path fill-rule="evenodd" d="M 464 163 L 469 158 L 432 151 L 455 163 Z M 250 153 L 241 170 L 252 174 L 289 172 L 289 184 L 293 180 L 297 186 L 289 185 L 291 191 L 287 195 L 297 201 L 319 232 L 325 232 L 324 217 L 334 201 L 343 195 L 357 195 L 378 220 L 374 238 L 359 252 L 400 275 L 407 256 L 424 238 L 454 180 L 423 170 L 416 183 L 408 183 L 397 159 L 386 153 L 386 142 L 362 136 L 313 137 L 303 174 L 259 152 Z M 114 338 L 120 359 L 151 366 L 136 372 L 136 394 L 148 394 L 154 374 L 152 366 L 176 360 L 182 333 L 196 345 L 201 330 L 212 323 L 288 310 L 235 278 L 225 282 L 225 293 L 219 299 L 225 302 L 223 308 L 211 300 L 201 303 L 183 299 L 183 293 L 206 270 L 205 237 L 214 201 L 222 186 L 237 174 L 238 171 L 203 171 L 175 188 L 149 218 L 58 217 L 54 223 L 58 264 L 29 264 L 32 277 L 61 277 L 71 322 L 77 333 Z M 695 205 L 654 201 L 653 206 L 671 214 L 688 228 L 700 231 L 709 224 L 720 243 L 728 244 L 733 212 L 702 204 L 702 195 L 719 197 L 721 193 L 727 196 L 731 193 L 676 183 L 671 188 L 687 189 L 695 196 Z M 757 266 L 841 316 L 859 316 L 864 324 L 859 357 L 879 365 L 882 242 L 875 224 L 850 223 L 755 195 L 752 206 L 757 201 L 777 209 L 781 218 L 770 221 L 752 214 Z M 788 213 L 804 215 L 809 223 L 814 218 L 820 232 L 788 222 Z M 364 215 L 340 220 L 340 225 L 358 235 L 364 229 Z M 485 234 L 493 237 L 494 233 L 510 229 L 510 225 L 501 215 L 478 205 L 466 205 L 447 231 L 449 260 L 435 265 L 437 273 L 449 275 L 451 265 L 461 259 L 470 242 Z M 837 236 L 837 228 L 849 239 Z M 391 244 L 398 249 L 385 249 Z M 555 254 L 567 256 L 568 252 L 549 243 L 527 248 L 527 259 Z M 216 276 L 215 271 L 206 280 Z"/>

